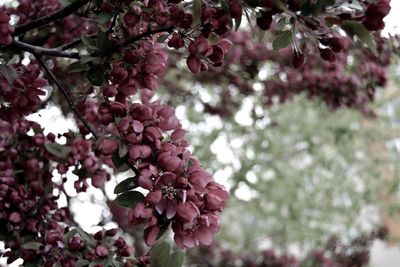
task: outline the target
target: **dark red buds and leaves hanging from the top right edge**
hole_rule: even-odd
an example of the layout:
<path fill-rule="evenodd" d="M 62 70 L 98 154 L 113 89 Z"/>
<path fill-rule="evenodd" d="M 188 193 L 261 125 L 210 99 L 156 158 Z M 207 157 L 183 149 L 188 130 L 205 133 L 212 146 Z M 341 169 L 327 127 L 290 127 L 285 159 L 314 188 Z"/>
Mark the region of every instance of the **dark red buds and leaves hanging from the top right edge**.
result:
<path fill-rule="evenodd" d="M 369 31 L 382 30 L 385 26 L 383 18 L 389 14 L 390 0 L 378 0 L 375 2 L 359 1 L 361 9 L 354 8 L 351 5 L 344 8 L 337 1 L 247 1 L 244 6 L 257 8 L 257 26 L 261 30 L 275 29 L 282 13 L 292 13 L 294 26 L 290 31 L 296 33 L 293 41 L 293 65 L 299 67 L 304 63 L 304 55 L 302 47 L 306 43 L 305 40 L 312 36 L 317 40 L 318 46 L 313 47 L 314 52 L 318 49 L 323 60 L 334 61 L 335 54 L 339 53 L 347 46 L 347 40 L 338 36 L 338 34 L 330 29 L 331 25 L 344 26 L 346 23 L 360 28 L 362 25 Z M 230 13 L 234 18 L 238 18 L 242 14 L 243 7 L 239 2 L 230 1 Z M 322 14 L 327 14 L 323 16 Z M 323 19 L 312 19 L 313 16 L 324 17 Z M 357 21 L 357 22 L 356 22 Z M 361 21 L 361 24 L 358 24 Z M 323 32 L 323 34 L 321 34 Z M 352 31 L 354 34 L 354 32 Z M 291 40 L 291 39 L 290 39 Z"/>

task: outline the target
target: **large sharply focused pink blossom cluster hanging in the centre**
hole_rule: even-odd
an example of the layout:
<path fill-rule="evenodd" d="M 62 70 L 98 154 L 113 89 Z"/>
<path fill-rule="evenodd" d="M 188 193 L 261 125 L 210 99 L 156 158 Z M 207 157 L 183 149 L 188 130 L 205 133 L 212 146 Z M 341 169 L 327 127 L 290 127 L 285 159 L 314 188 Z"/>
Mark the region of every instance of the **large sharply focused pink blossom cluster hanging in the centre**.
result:
<path fill-rule="evenodd" d="M 118 111 L 112 109 L 113 104 Z M 110 102 L 109 107 L 116 116 L 124 116 L 117 128 L 128 149 L 119 156 L 138 166 L 137 184 L 149 191 L 129 214 L 132 223 L 145 224 L 146 243 L 152 245 L 160 227 L 173 222 L 180 248 L 210 244 L 228 192 L 212 181 L 186 149 L 185 131 L 173 109 L 158 102 L 134 103 L 129 110 L 119 102 Z M 119 143 L 103 139 L 99 150 L 104 156 L 112 155 Z"/>

